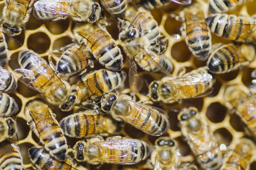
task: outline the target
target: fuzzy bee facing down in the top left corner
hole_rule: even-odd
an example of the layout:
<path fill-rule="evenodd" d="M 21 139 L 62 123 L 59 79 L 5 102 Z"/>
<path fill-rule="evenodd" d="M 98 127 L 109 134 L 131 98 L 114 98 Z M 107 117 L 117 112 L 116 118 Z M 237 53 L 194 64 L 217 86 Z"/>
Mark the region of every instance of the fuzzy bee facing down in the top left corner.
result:
<path fill-rule="evenodd" d="M 9 36 L 19 35 L 25 30 L 34 0 L 6 0 L 3 8 L 1 28 Z"/>

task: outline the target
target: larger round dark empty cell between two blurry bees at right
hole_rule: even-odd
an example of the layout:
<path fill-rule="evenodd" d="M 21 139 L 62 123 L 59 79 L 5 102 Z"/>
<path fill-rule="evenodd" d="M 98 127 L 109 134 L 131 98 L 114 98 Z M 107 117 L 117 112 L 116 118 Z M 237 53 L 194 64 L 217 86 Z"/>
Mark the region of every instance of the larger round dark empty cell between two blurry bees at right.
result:
<path fill-rule="evenodd" d="M 214 123 L 222 122 L 225 119 L 227 108 L 219 102 L 209 105 L 206 111 L 207 118 Z"/>

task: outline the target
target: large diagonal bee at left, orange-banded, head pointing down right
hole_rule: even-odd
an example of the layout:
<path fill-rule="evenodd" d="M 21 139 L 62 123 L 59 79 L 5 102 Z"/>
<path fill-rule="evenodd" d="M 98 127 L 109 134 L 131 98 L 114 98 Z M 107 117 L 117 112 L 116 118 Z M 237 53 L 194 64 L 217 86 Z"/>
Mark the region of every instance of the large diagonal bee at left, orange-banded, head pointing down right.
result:
<path fill-rule="evenodd" d="M 32 50 L 20 51 L 18 62 L 20 69 L 15 69 L 21 82 L 45 96 L 48 102 L 58 105 L 62 111 L 70 111 L 76 103 L 75 89 L 61 80 L 49 67 L 48 63 Z"/>

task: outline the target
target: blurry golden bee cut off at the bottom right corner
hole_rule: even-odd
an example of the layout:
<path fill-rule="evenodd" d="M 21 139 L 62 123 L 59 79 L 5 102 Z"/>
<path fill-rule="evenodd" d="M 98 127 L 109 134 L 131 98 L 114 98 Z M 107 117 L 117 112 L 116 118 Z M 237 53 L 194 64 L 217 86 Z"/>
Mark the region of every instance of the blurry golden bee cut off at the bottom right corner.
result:
<path fill-rule="evenodd" d="M 239 139 L 235 149 L 224 159 L 221 170 L 250 170 L 255 149 L 255 144 L 250 139 Z"/>

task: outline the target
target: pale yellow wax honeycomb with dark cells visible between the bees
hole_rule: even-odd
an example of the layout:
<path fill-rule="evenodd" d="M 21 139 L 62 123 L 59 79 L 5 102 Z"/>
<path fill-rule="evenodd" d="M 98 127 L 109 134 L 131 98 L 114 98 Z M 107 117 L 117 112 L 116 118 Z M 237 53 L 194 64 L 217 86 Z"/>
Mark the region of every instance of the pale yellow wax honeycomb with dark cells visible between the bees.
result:
<path fill-rule="evenodd" d="M 0 11 L 2 11 L 5 1 L 0 1 Z M 203 0 L 198 0 L 198 3 L 201 3 L 203 9 L 207 10 L 207 2 Z M 254 14 L 254 9 L 256 7 L 256 2 L 248 2 L 242 6 L 238 6 L 232 11 L 229 11 L 230 14 L 237 14 L 242 16 L 252 16 Z M 180 34 L 180 26 L 182 22 L 176 21 L 172 17 L 172 13 L 176 13 L 182 7 L 175 4 L 169 3 L 166 6 L 161 8 L 151 10 L 152 15 L 159 24 L 159 28 L 164 37 L 168 37 L 168 47 L 164 55 L 172 62 L 174 65 L 174 71 L 172 75 L 177 76 L 181 68 L 186 68 L 186 71 L 191 71 L 193 69 L 199 68 L 206 65 L 206 62 L 202 62 L 197 58 L 193 57 L 189 51 L 183 38 L 175 39 L 170 36 L 172 34 Z M 205 11 L 207 13 L 207 11 Z M 2 15 L 2 14 L 0 14 Z M 119 32 L 117 28 L 116 21 L 110 18 L 112 25 L 107 29 L 109 33 L 113 36 L 115 40 L 118 39 Z M 48 55 L 53 50 L 58 50 L 62 46 L 72 43 L 73 33 L 72 33 L 72 21 L 71 20 L 61 20 L 56 22 L 43 22 L 38 21 L 31 15 L 29 22 L 27 23 L 26 31 L 16 37 L 6 37 L 9 51 L 8 58 L 9 63 L 5 66 L 12 74 L 13 70 L 19 68 L 17 63 L 18 52 L 20 50 L 32 49 L 33 51 L 40 54 L 45 59 L 48 59 Z M 224 40 L 223 38 L 216 37 L 212 34 L 212 44 L 217 42 L 229 43 L 230 41 Z M 117 40 L 117 43 L 120 45 L 120 41 Z M 125 71 L 128 71 L 128 57 L 124 55 L 125 64 L 123 66 Z M 55 62 L 58 60 L 57 56 L 52 56 Z M 102 68 L 97 62 L 95 62 L 95 68 Z M 195 106 L 200 111 L 201 116 L 207 119 L 209 127 L 214 132 L 218 144 L 226 146 L 227 148 L 233 148 L 235 142 L 245 136 L 244 130 L 241 126 L 241 121 L 238 116 L 231 114 L 229 108 L 225 107 L 224 102 L 224 89 L 228 85 L 238 84 L 245 91 L 248 91 L 247 86 L 251 85 L 250 74 L 253 69 L 256 68 L 256 61 L 250 63 L 246 68 L 240 69 L 238 71 L 233 71 L 227 74 L 217 75 L 216 82 L 213 86 L 214 91 L 209 96 L 184 100 L 179 104 L 154 104 L 155 106 L 164 109 L 169 114 L 170 129 L 165 136 L 171 136 L 176 139 L 178 142 L 178 147 L 180 149 L 182 161 L 193 161 L 194 156 L 189 149 L 189 146 L 186 142 L 183 141 L 180 127 L 178 126 L 177 114 L 178 110 L 184 107 Z M 140 70 L 141 74 L 145 75 L 145 78 L 148 82 L 151 82 L 153 79 L 160 79 L 159 74 L 145 73 Z M 125 88 L 120 90 L 120 93 L 129 94 L 131 91 L 128 88 L 128 80 L 125 82 Z M 144 83 L 143 89 L 140 94 L 136 94 L 138 100 L 149 100 L 147 95 L 147 86 Z M 26 103 L 38 97 L 41 97 L 37 92 L 29 89 L 21 82 L 18 82 L 17 91 L 10 94 L 19 105 L 19 113 L 17 114 L 17 125 L 18 125 L 18 141 L 16 137 L 10 139 L 11 142 L 17 144 L 20 147 L 20 151 L 23 156 L 24 168 L 31 169 L 32 164 L 29 161 L 28 149 L 33 145 L 38 146 L 40 142 L 38 138 L 32 133 L 32 130 L 26 125 L 26 117 L 24 115 L 24 107 Z M 50 105 L 50 104 L 49 104 Z M 61 112 L 58 108 L 52 107 L 53 112 L 57 114 L 57 119 L 60 120 L 64 116 L 67 116 L 69 113 Z M 77 108 L 76 108 L 77 109 Z M 177 111 L 176 111 L 177 110 Z M 144 140 L 149 144 L 153 145 L 154 141 L 157 139 L 155 136 L 149 136 L 131 125 L 125 124 L 122 126 L 122 129 L 115 133 L 114 135 L 122 134 L 123 136 L 128 136 L 130 138 L 136 138 Z M 73 146 L 77 140 L 67 138 L 69 146 Z M 69 155 L 72 155 L 72 149 L 69 148 Z M 88 169 L 94 169 L 87 164 L 82 164 Z M 152 166 L 149 161 L 142 161 L 139 164 L 135 164 L 132 167 L 134 169 L 151 169 Z M 113 169 L 117 170 L 121 167 L 118 165 L 108 165 L 104 164 L 100 169 Z M 256 169 L 256 161 L 253 161 L 250 169 Z"/>

